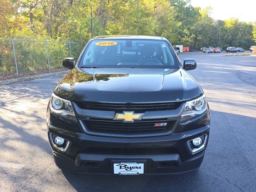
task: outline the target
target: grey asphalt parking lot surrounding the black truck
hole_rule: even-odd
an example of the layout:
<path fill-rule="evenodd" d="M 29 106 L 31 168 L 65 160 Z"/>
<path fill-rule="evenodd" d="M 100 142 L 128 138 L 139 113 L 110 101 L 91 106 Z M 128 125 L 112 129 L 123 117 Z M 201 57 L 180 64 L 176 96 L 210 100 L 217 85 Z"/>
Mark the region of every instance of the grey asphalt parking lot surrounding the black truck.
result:
<path fill-rule="evenodd" d="M 46 134 L 46 106 L 62 76 L 0 86 L 0 191 L 255 192 L 256 57 L 189 52 L 190 74 L 211 108 L 199 170 L 170 176 L 102 176 L 61 171 Z"/>

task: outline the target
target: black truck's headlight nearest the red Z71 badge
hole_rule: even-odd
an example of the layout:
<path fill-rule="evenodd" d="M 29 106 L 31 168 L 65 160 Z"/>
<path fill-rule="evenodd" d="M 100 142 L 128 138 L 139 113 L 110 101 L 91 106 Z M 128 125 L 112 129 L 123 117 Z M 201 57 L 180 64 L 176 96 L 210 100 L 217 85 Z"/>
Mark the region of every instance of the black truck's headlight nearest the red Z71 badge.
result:
<path fill-rule="evenodd" d="M 206 111 L 207 104 L 206 104 L 206 98 L 205 95 L 192 100 L 188 101 L 185 104 L 184 110 L 182 112 L 180 122 L 189 120 L 191 118 L 194 118 Z"/>

